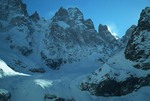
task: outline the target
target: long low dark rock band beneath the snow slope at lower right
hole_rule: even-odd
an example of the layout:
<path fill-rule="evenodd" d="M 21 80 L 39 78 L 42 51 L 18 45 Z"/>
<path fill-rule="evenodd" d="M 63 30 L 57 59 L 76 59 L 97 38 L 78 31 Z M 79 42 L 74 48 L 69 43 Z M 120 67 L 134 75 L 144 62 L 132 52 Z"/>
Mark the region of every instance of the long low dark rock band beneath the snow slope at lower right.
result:
<path fill-rule="evenodd" d="M 125 81 L 116 81 L 108 78 L 98 84 L 81 83 L 81 90 L 88 90 L 96 96 L 122 96 L 133 91 L 137 91 L 143 86 L 150 86 L 150 76 L 147 77 L 129 77 Z"/>

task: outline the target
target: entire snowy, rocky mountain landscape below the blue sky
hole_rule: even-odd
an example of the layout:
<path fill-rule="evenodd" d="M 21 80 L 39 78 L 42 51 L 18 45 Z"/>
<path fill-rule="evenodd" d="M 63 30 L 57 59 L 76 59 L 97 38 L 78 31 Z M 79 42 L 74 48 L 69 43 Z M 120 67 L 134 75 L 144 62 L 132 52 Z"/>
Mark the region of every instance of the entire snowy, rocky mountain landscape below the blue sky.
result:
<path fill-rule="evenodd" d="M 1 0 L 0 15 L 0 100 L 149 99 L 149 7 L 120 40 L 76 7 L 45 20 L 21 0 Z"/>

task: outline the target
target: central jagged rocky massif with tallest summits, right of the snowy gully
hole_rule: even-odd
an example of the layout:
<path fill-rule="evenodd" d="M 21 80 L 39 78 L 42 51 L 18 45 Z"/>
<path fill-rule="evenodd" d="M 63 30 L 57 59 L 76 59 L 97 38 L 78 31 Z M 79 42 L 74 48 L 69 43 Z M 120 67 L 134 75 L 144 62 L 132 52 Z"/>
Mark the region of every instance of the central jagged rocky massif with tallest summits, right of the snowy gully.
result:
<path fill-rule="evenodd" d="M 61 64 L 80 61 L 96 54 L 98 57 L 95 60 L 104 62 L 114 51 L 96 32 L 92 20 L 85 20 L 78 8 L 61 7 L 56 12 L 45 34 L 44 44 L 42 58 L 47 66 L 54 69 Z"/>

